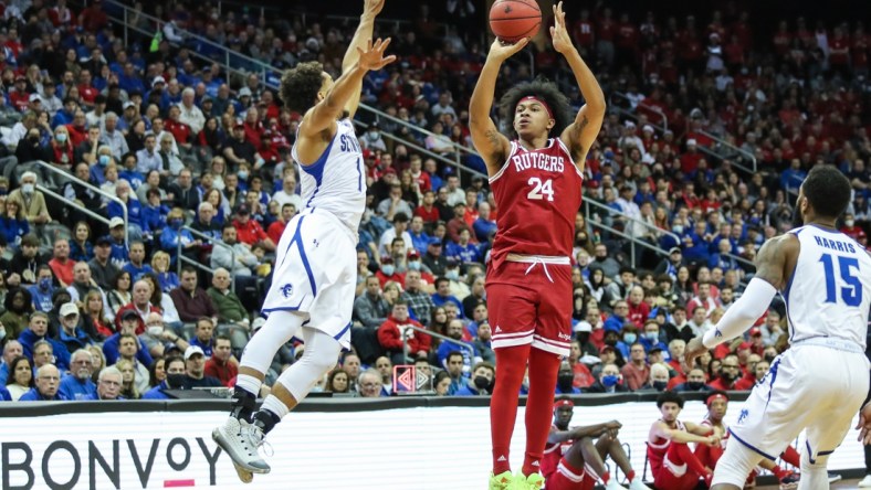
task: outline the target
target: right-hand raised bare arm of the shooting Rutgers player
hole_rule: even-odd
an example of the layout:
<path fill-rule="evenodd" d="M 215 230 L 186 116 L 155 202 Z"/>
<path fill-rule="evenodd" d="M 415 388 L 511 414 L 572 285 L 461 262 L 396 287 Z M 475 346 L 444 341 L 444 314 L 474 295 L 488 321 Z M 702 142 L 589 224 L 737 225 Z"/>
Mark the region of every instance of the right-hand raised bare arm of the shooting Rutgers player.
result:
<path fill-rule="evenodd" d="M 566 57 L 571 73 L 575 74 L 580 93 L 584 95 L 584 107 L 578 110 L 575 121 L 568 125 L 559 136 L 568 146 L 571 158 L 583 172 L 587 151 L 596 141 L 596 136 L 599 134 L 601 121 L 605 118 L 605 94 L 587 63 L 580 57 L 580 53 L 571 44 L 562 1 L 554 7 L 554 26 L 550 28 L 550 38 L 554 40 L 554 50 Z"/>

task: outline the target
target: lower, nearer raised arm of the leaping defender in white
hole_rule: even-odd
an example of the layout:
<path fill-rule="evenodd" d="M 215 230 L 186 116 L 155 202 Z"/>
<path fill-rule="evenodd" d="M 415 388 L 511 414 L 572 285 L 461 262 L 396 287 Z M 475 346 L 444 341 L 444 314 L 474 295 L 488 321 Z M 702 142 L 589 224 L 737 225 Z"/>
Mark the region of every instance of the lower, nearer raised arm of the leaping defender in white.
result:
<path fill-rule="evenodd" d="M 396 60 L 393 55 L 384 57 L 388 45 L 390 38 L 386 41 L 379 39 L 375 44 L 368 40 L 365 49 L 356 47 L 358 58 L 354 65 L 338 77 L 326 97 L 303 116 L 300 125 L 301 138 L 315 138 L 325 129 L 334 128 L 351 98 L 359 98 L 364 75 L 371 70 L 381 70 Z"/>

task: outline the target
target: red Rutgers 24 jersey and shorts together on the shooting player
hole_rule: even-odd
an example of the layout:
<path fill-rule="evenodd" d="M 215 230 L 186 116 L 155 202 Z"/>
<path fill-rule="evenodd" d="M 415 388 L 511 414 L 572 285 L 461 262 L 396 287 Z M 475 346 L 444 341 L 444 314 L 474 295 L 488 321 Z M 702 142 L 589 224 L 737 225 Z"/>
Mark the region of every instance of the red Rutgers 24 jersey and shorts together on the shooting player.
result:
<path fill-rule="evenodd" d="M 532 344 L 568 355 L 571 247 L 581 175 L 559 138 L 511 152 L 490 184 L 500 210 L 486 289 L 493 348 Z"/>

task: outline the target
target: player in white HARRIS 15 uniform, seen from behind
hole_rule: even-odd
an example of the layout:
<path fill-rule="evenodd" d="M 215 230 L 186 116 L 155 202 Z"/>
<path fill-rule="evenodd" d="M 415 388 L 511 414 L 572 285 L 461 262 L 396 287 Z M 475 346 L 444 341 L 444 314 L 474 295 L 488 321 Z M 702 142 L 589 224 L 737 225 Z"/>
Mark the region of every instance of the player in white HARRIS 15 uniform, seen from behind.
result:
<path fill-rule="evenodd" d="M 850 182 L 836 167 L 814 167 L 796 202 L 802 226 L 762 246 L 744 295 L 686 345 L 686 364 L 694 365 L 705 350 L 744 333 L 778 291 L 786 302 L 790 348 L 772 362 L 728 428 L 733 440 L 716 465 L 714 490 L 741 489 L 763 458 L 774 460 L 805 428 L 798 488 L 829 488 L 829 455 L 869 388 L 871 256 L 836 227 L 850 195 Z"/>

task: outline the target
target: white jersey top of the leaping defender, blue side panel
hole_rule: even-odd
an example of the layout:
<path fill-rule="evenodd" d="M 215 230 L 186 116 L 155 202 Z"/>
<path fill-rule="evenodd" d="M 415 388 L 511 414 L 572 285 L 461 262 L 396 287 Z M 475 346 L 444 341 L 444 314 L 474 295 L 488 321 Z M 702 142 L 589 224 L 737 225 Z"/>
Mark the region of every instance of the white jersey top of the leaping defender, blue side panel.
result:
<path fill-rule="evenodd" d="M 360 143 L 349 118 L 338 121 L 338 130 L 324 153 L 312 164 L 300 166 L 305 207 L 333 213 L 354 234 L 366 207 L 366 179 Z M 298 163 L 296 145 L 292 156 Z M 301 210 L 302 211 L 302 210 Z"/>

